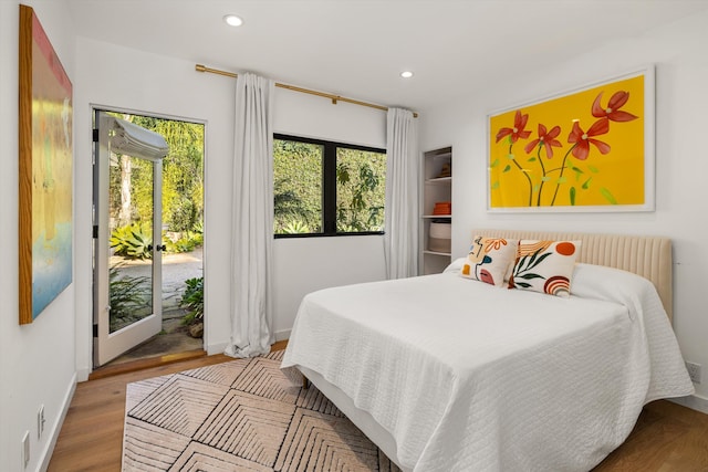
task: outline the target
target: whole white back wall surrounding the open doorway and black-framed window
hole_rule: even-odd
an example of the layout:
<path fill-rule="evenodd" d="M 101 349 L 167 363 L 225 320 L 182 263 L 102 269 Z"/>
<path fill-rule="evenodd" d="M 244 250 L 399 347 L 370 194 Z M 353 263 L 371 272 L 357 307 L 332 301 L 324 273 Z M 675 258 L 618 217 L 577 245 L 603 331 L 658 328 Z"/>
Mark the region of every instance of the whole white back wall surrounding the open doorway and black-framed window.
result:
<path fill-rule="evenodd" d="M 235 61 L 238 61 L 237 59 Z M 229 260 L 235 80 L 195 71 L 183 60 L 84 38 L 76 45 L 77 367 L 91 369 L 91 107 L 102 105 L 206 123 L 205 342 L 210 354 L 229 340 Z M 237 71 L 238 72 L 238 71 Z M 273 77 L 278 78 L 278 77 Z M 296 85 L 296 84 L 295 84 Z M 360 106 L 275 88 L 277 133 L 385 147 L 386 116 Z M 342 270 L 342 262 L 346 266 Z M 277 240 L 274 319 L 288 337 L 302 296 L 341 282 L 384 277 L 382 237 Z"/>

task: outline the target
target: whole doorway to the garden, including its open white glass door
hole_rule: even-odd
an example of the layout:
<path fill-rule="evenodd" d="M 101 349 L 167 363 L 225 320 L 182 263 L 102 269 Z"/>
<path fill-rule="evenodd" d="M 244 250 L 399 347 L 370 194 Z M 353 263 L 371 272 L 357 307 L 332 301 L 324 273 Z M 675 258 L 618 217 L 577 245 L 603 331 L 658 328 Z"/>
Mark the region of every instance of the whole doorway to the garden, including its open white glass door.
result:
<path fill-rule="evenodd" d="M 204 124 L 94 109 L 94 367 L 202 349 Z"/>

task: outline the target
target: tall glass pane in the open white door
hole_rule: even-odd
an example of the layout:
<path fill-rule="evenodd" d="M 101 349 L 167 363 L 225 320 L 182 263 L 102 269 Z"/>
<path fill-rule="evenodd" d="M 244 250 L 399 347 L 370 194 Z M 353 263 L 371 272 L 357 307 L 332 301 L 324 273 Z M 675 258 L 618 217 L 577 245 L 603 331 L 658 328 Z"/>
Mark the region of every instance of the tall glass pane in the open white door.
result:
<path fill-rule="evenodd" d="M 111 153 L 110 333 L 153 313 L 153 164 Z"/>

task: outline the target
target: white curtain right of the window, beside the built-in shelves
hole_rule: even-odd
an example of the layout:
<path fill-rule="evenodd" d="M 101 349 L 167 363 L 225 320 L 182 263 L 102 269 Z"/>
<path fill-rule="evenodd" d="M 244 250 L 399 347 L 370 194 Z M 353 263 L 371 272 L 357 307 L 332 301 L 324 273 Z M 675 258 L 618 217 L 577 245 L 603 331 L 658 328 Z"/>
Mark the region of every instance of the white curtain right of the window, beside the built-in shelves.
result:
<path fill-rule="evenodd" d="M 413 112 L 388 108 L 386 127 L 386 276 L 418 275 L 418 129 Z"/>

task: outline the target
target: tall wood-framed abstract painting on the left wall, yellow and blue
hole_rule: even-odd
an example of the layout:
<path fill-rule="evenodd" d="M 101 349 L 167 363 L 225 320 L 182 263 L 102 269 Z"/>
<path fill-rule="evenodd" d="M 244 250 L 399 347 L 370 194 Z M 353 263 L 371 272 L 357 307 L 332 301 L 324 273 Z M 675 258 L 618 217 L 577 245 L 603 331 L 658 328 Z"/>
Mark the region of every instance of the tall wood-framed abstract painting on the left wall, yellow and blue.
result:
<path fill-rule="evenodd" d="M 30 7 L 20 6 L 20 324 L 72 282 L 72 84 Z"/>

